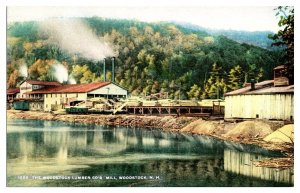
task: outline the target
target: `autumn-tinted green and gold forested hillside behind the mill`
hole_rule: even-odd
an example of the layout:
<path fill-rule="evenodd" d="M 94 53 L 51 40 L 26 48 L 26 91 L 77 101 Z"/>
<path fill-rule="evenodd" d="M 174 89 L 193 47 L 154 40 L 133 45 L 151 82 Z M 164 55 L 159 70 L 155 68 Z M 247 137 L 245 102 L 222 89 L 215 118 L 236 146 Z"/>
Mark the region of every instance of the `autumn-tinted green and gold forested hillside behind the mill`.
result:
<path fill-rule="evenodd" d="M 217 98 L 254 78 L 271 79 L 281 63 L 279 51 L 240 44 L 224 36 L 186 29 L 172 23 L 82 18 L 115 53 L 115 81 L 132 95 L 169 92 L 171 98 Z M 67 69 L 63 81 L 103 80 L 103 61 L 70 53 L 40 31 L 39 22 L 8 24 L 7 85 L 28 78 L 58 80 L 57 64 Z M 66 34 L 67 36 L 68 34 Z M 82 37 L 84 38 L 84 37 Z M 86 46 L 86 45 L 85 45 Z M 107 58 L 107 80 L 111 78 Z M 25 72 L 26 74 L 26 72 Z"/>

